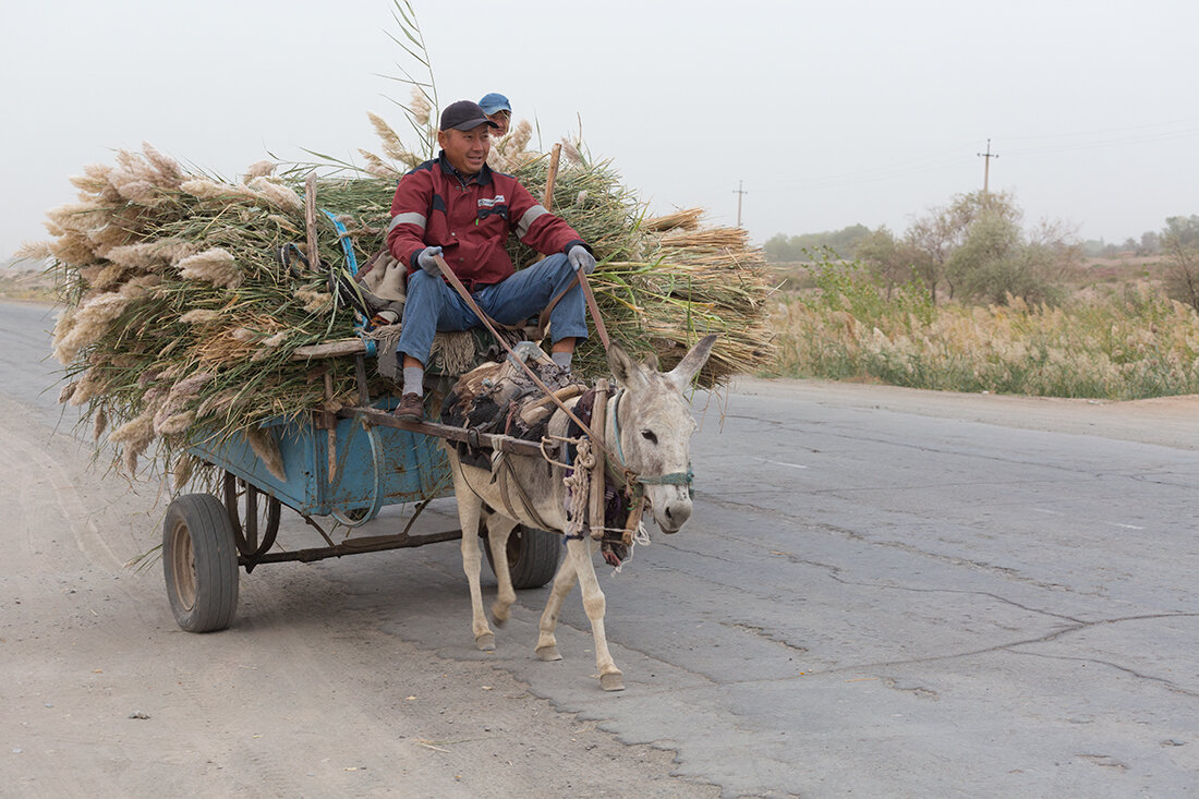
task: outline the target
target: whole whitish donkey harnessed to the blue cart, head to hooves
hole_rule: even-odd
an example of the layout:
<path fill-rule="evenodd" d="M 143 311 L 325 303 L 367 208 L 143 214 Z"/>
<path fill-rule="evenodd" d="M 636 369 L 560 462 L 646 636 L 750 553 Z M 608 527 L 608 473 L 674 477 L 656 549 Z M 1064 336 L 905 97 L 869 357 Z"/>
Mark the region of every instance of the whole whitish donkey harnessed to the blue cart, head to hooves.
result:
<path fill-rule="evenodd" d="M 668 373 L 635 364 L 615 344 L 608 352 L 608 365 L 619 391 L 608 400 L 603 446 L 614 457 L 621 458 L 625 469 L 635 474 L 637 480 L 645 487 L 647 505 L 652 509 L 653 519 L 663 533 L 677 533 L 691 517 L 689 440 L 695 431 L 695 422 L 691 417 L 683 391 L 707 362 L 715 342 L 715 335 L 705 337 Z M 566 404 L 570 405 L 571 402 L 577 400 Z M 565 435 L 567 423 L 566 414 L 558 410 L 549 420 L 549 433 Z M 450 469 L 453 473 L 454 494 L 458 499 L 458 519 L 463 529 L 462 565 L 470 583 L 475 644 L 480 649 L 490 650 L 495 649 L 495 635 L 483 613 L 478 583 L 482 561 L 480 536 L 472 535 L 471 531 L 478 530 L 480 522 L 486 521 L 492 563 L 499 581 L 492 614 L 495 624 L 502 626 L 508 620 L 512 603 L 516 602 L 506 555 L 508 535 L 517 523 L 534 527 L 542 524 L 528 518 L 531 513 L 523 503 L 517 503 L 519 507 L 513 509 L 520 518 L 508 517 L 506 504 L 499 487 L 493 482 L 492 473 L 459 461 L 457 450 L 452 445 L 447 444 L 446 451 L 450 455 Z M 602 453 L 597 455 L 602 457 Z M 552 530 L 565 533 L 567 497 L 562 482 L 562 467 L 548 465 L 540 458 L 523 456 L 512 457 L 510 465 L 541 522 Z M 505 509 L 505 512 L 499 509 Z M 621 691 L 625 687 L 623 675 L 608 651 L 603 625 L 605 601 L 591 561 L 597 548 L 598 542 L 590 537 L 567 539 L 567 557 L 558 569 L 549 601 L 541 615 L 538 625 L 541 635 L 536 651 L 541 660 L 561 660 L 554 627 L 562 601 L 578 579 L 583 590 L 583 607 L 591 621 L 591 633 L 595 637 L 600 685 L 605 691 Z"/>

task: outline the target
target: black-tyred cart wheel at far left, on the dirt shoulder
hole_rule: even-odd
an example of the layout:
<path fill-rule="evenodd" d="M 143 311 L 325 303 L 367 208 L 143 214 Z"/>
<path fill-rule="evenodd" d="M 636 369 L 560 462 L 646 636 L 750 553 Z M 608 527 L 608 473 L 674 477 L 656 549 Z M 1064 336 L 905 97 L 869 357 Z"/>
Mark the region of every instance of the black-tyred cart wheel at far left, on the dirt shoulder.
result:
<path fill-rule="evenodd" d="M 237 551 L 224 505 L 185 494 L 162 524 L 162 569 L 175 621 L 188 632 L 224 630 L 237 611 Z"/>

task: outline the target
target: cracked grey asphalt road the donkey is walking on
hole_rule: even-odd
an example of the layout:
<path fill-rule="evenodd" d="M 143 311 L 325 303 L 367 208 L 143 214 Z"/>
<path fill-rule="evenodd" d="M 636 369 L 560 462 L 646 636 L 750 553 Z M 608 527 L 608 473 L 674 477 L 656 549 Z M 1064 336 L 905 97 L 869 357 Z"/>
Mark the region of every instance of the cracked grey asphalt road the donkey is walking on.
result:
<path fill-rule="evenodd" d="M 7 336 L 0 368 L 30 373 Z M 25 383 L 4 392 L 56 419 Z M 805 382 L 700 395 L 692 521 L 601 570 L 617 695 L 589 677 L 577 593 L 566 660 L 532 654 L 546 589 L 476 651 L 452 543 L 277 569 L 319 575 L 397 645 L 675 751 L 674 774 L 724 795 L 1199 795 L 1197 411 Z M 289 516 L 281 540 L 299 540 Z M 452 504 L 423 523 L 454 527 Z"/>

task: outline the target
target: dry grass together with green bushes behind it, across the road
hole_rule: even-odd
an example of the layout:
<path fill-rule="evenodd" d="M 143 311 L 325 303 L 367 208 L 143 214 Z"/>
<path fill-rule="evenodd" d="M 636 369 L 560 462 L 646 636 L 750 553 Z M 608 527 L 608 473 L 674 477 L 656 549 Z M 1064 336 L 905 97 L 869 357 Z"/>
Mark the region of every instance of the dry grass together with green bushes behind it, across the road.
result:
<path fill-rule="evenodd" d="M 857 258 L 781 270 L 769 374 L 910 388 L 1135 400 L 1199 394 L 1199 217 L 1159 256 L 1087 265 L 1007 196 L 962 196 Z M 1132 256 L 1133 253 L 1128 253 Z M 1193 290 L 1192 290 L 1193 289 Z"/>

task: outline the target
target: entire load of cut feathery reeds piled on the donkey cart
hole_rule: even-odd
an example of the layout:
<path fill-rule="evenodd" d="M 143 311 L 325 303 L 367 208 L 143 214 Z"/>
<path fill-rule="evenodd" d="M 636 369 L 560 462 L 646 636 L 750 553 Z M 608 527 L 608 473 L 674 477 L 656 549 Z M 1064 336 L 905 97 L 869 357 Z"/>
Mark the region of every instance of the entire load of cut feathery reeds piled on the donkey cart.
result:
<path fill-rule="evenodd" d="M 427 115 L 427 113 L 426 113 Z M 65 311 L 54 354 L 70 384 L 62 401 L 86 404 L 97 439 L 115 444 L 134 473 L 156 444 L 163 471 L 189 475 L 186 444 L 200 435 L 251 433 L 260 422 L 354 402 L 350 359 L 295 360 L 299 347 L 354 335 L 354 318 L 327 288 L 345 270 L 342 239 L 359 263 L 385 244 L 397 174 L 412 161 L 399 138 L 373 118 L 384 156 L 367 168 L 318 181 L 318 252 L 306 252 L 302 179 L 260 162 L 239 180 L 186 172 L 150 145 L 120 152 L 72 179 L 79 202 L 48 214 L 48 253 Z M 548 158 L 526 149 L 528 124 L 496 148 L 499 166 L 540 196 Z M 327 164 L 326 164 L 327 166 Z M 597 301 L 626 349 L 670 367 L 707 332 L 721 340 L 700 377 L 713 385 L 766 358 L 769 293 L 764 262 L 737 229 L 699 228 L 698 210 L 656 220 L 623 187 L 610 164 L 591 163 L 572 144 L 556 176 L 553 209 L 595 248 Z M 281 247 L 295 246 L 323 271 L 287 269 Z M 518 266 L 537 258 L 519 242 Z M 578 352 L 576 371 L 605 371 L 598 342 Z M 325 389 L 325 374 L 332 392 Z M 379 380 L 373 392 L 390 390 Z"/>

